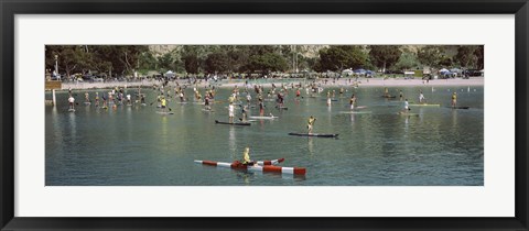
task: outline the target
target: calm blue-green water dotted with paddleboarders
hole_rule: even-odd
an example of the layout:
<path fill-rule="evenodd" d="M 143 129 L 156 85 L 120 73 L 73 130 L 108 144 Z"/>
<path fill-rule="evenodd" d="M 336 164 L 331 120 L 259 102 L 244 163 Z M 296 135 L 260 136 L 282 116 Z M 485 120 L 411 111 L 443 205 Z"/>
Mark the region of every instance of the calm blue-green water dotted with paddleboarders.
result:
<path fill-rule="evenodd" d="M 337 88 L 336 98 L 339 97 Z M 396 114 L 403 103 L 381 98 L 384 88 L 348 88 L 344 98 L 327 107 L 325 96 L 294 100 L 279 111 L 266 102 L 266 114 L 276 121 L 257 121 L 251 127 L 215 124 L 227 120 L 227 103 L 215 103 L 215 112 L 199 105 L 173 100 L 173 116 L 161 116 L 148 95 L 147 107 L 120 106 L 104 110 L 84 106 L 86 90 L 74 91 L 76 112 L 67 111 L 67 92 L 57 94 L 58 106 L 46 106 L 46 185 L 116 186 L 417 186 L 484 184 L 484 88 L 399 87 L 411 102 L 419 90 L 430 103 L 412 107 L 419 117 Z M 460 106 L 452 110 L 452 91 Z M 98 90 L 101 94 L 104 90 Z M 105 90 L 108 92 L 109 90 Z M 96 90 L 88 90 L 94 99 Z M 192 89 L 186 90 L 192 96 Z M 228 89 L 217 90 L 217 101 Z M 255 91 L 250 91 L 256 99 Z M 326 92 L 326 91 L 325 91 Z M 366 114 L 344 114 L 355 92 Z M 129 89 L 133 96 L 133 90 Z M 302 90 L 302 96 L 304 96 Z M 244 96 L 244 94 L 241 94 Z M 46 95 L 50 99 L 51 96 Z M 240 113 L 240 111 L 239 111 Z M 257 114 L 252 109 L 250 114 Z M 339 133 L 339 139 L 290 136 L 305 132 L 306 119 L 315 116 L 314 132 Z M 284 157 L 281 166 L 306 167 L 304 177 L 245 173 L 202 166 L 194 160 L 231 162 L 251 147 L 253 160 Z"/>

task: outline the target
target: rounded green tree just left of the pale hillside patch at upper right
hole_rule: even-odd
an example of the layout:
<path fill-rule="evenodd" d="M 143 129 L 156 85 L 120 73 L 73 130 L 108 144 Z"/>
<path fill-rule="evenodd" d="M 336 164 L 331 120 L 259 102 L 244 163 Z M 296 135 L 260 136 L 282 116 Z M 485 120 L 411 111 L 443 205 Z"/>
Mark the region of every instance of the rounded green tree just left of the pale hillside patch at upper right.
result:
<path fill-rule="evenodd" d="M 369 57 L 375 66 L 384 70 L 391 67 L 399 61 L 401 51 L 395 45 L 373 45 L 369 46 Z"/>

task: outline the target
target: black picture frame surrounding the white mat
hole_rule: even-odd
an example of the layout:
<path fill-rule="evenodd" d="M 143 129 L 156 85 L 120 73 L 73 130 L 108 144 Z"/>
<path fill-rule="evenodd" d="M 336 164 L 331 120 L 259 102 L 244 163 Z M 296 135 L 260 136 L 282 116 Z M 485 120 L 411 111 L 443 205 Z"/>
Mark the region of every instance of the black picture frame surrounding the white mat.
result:
<path fill-rule="evenodd" d="M 527 0 L 0 0 L 1 230 L 528 230 Z M 14 217 L 14 16 L 17 14 L 515 14 L 514 218 L 18 218 Z"/>

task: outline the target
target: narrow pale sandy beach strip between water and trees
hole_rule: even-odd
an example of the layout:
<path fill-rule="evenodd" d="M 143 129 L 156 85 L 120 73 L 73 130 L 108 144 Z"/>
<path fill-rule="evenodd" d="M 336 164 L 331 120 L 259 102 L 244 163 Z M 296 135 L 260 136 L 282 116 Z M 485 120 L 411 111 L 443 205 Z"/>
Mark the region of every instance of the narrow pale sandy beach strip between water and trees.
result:
<path fill-rule="evenodd" d="M 321 85 L 321 87 L 354 87 L 354 79 L 345 78 L 338 79 L 333 82 L 333 79 L 327 79 L 327 82 L 324 82 L 325 79 L 317 79 L 316 84 Z M 194 87 L 194 85 L 188 84 L 187 80 L 176 80 L 182 86 Z M 261 82 L 263 79 L 257 80 L 248 80 L 248 87 L 253 87 L 257 85 L 262 85 L 266 88 L 270 88 L 272 82 L 277 87 L 281 87 L 282 84 L 288 85 L 290 88 L 291 84 L 298 85 L 301 84 L 310 84 L 314 80 L 312 79 L 273 79 L 268 80 L 267 82 Z M 142 80 L 142 81 L 133 81 L 133 82 L 63 82 L 61 90 L 68 90 L 72 88 L 73 90 L 89 90 L 89 89 L 110 89 L 115 87 L 119 88 L 138 88 L 139 86 L 142 88 L 152 88 L 153 86 L 160 86 L 161 82 L 158 80 Z M 174 88 L 174 81 L 170 81 L 170 88 Z M 234 88 L 235 86 L 239 88 L 245 88 L 246 84 L 245 80 L 222 80 L 222 81 L 202 81 L 196 85 L 198 88 L 204 88 L 208 85 L 215 86 L 215 88 Z M 421 86 L 432 86 L 432 87 L 443 87 L 443 86 L 484 86 L 485 80 L 484 77 L 472 77 L 469 79 L 462 79 L 462 78 L 454 78 L 454 79 L 432 79 L 432 80 L 422 80 L 422 79 L 403 79 L 403 78 L 358 78 L 358 87 L 421 87 Z"/>

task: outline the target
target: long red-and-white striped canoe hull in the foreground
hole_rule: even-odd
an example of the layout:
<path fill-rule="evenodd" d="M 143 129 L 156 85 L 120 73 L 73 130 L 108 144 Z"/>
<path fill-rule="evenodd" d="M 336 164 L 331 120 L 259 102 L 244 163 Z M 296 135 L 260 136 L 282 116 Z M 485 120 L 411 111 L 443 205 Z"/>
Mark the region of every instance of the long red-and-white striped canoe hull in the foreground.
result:
<path fill-rule="evenodd" d="M 238 161 L 233 163 L 227 162 L 212 162 L 212 161 L 194 161 L 196 164 L 216 166 L 216 167 L 229 167 L 231 169 L 249 170 L 249 172 L 263 172 L 263 173 L 280 173 L 292 175 L 305 175 L 306 169 L 304 167 L 281 167 L 274 165 L 245 165 Z"/>

